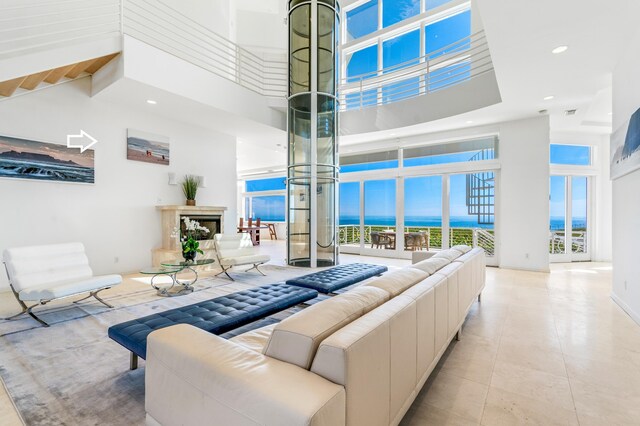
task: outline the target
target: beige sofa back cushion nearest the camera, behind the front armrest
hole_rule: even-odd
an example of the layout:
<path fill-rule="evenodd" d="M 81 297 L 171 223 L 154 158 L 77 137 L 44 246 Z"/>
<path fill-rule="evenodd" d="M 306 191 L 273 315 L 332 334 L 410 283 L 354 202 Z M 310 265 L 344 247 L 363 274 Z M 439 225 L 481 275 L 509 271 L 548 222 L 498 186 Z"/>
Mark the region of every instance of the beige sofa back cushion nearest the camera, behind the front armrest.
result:
<path fill-rule="evenodd" d="M 308 370 L 327 336 L 387 300 L 386 291 L 362 286 L 316 303 L 276 325 L 264 354 Z"/>

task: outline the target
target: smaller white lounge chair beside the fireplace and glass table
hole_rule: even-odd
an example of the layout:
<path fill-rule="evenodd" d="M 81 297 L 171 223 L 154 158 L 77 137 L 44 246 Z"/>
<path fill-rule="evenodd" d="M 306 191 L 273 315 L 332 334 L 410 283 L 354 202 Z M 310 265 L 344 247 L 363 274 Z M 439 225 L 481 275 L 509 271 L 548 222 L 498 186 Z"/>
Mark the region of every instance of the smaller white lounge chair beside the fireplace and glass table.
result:
<path fill-rule="evenodd" d="M 253 265 L 253 267 L 247 269 L 247 271 L 255 269 L 264 275 L 264 273 L 258 269 L 258 266 L 271 260 L 271 257 L 258 252 L 248 233 L 216 234 L 213 237 L 213 241 L 218 262 L 222 268 L 222 271 L 217 275 L 224 273 L 231 281 L 235 281 L 227 271 L 234 266 L 241 265 Z"/>

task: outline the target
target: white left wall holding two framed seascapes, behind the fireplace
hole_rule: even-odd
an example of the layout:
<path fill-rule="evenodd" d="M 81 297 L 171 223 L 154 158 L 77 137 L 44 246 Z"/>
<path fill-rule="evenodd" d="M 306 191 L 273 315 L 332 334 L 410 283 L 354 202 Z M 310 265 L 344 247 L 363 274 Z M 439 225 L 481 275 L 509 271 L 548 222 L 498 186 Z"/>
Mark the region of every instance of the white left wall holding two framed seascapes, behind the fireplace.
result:
<path fill-rule="evenodd" d="M 235 138 L 89 97 L 88 78 L 0 101 L 0 134 L 53 143 L 85 130 L 98 139 L 94 185 L 0 179 L 0 251 L 6 247 L 82 241 L 96 273 L 150 266 L 161 244 L 158 204 L 183 204 L 168 172 L 206 177 L 199 205 L 227 206 L 236 218 Z M 126 159 L 126 129 L 171 139 L 171 165 Z M 115 258 L 119 262 L 115 262 Z M 6 288 L 2 274 L 0 289 Z"/>

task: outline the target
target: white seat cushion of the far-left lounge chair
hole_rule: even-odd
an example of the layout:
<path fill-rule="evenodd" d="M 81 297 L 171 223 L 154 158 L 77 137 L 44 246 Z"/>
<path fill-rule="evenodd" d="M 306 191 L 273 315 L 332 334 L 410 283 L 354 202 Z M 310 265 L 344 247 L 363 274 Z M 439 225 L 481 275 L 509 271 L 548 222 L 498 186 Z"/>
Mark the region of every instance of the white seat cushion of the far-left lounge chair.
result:
<path fill-rule="evenodd" d="M 52 300 L 113 287 L 121 282 L 122 277 L 120 275 L 100 275 L 73 281 L 51 282 L 21 290 L 18 293 L 18 297 L 24 301 Z"/>

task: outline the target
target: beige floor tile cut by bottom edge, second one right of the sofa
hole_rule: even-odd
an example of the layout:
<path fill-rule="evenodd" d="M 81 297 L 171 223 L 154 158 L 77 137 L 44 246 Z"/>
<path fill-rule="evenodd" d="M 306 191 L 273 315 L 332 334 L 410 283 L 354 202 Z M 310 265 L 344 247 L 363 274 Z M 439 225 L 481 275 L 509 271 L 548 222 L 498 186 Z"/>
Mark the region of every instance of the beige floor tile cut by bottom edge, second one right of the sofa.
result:
<path fill-rule="evenodd" d="M 484 426 L 577 425 L 575 410 L 490 387 L 482 416 Z"/>

